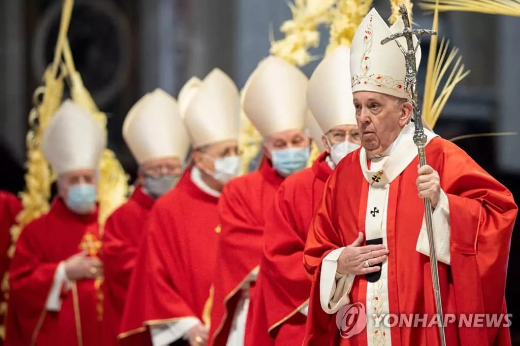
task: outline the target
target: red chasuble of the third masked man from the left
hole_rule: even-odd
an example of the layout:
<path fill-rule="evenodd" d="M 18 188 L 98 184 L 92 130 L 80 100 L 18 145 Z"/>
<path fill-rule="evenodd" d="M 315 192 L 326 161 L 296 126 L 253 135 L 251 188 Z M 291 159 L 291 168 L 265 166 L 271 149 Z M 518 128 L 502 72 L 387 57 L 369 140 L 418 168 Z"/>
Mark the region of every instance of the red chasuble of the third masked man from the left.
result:
<path fill-rule="evenodd" d="M 184 317 L 206 322 L 220 231 L 217 203 L 191 179 L 155 202 L 126 298 L 123 344 L 150 344 L 148 326 Z"/>

